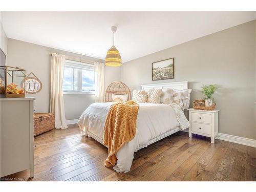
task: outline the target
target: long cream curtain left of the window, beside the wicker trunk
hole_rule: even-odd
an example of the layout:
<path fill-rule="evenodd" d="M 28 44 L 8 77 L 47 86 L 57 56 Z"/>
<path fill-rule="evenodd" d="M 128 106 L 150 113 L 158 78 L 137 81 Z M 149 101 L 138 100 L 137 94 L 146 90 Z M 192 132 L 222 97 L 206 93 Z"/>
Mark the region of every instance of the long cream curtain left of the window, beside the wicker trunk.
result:
<path fill-rule="evenodd" d="M 56 129 L 68 128 L 62 93 L 62 76 L 65 66 L 65 59 L 65 55 L 52 53 L 50 113 L 54 113 L 55 115 Z"/>

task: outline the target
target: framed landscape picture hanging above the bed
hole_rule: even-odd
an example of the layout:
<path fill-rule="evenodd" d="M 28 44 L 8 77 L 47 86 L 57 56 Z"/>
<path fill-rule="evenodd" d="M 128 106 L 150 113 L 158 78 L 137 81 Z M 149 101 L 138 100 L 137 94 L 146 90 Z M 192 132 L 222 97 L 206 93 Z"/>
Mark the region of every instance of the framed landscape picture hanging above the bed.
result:
<path fill-rule="evenodd" d="M 152 80 L 174 78 L 174 58 L 165 59 L 152 63 Z"/>

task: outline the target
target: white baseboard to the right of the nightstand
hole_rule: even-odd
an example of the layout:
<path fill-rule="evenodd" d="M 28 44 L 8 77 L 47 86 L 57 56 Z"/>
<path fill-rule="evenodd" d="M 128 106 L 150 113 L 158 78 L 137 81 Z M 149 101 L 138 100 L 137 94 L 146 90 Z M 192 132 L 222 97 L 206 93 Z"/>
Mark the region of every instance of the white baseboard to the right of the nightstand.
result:
<path fill-rule="evenodd" d="M 218 133 L 218 136 L 216 137 L 216 139 L 256 147 L 256 140 L 248 139 L 245 137 L 239 137 L 239 136 L 228 135 L 228 134 L 224 134 L 224 133 Z"/>

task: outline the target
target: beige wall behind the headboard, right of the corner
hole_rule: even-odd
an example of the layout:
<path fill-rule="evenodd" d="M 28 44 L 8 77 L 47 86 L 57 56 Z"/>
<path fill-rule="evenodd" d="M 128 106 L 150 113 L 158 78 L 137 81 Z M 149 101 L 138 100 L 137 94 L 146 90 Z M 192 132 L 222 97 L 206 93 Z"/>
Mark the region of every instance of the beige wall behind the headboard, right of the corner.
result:
<path fill-rule="evenodd" d="M 152 81 L 152 62 L 174 57 L 175 78 Z M 191 103 L 203 99 L 202 84 L 216 83 L 219 132 L 256 139 L 255 21 L 153 53 L 122 65 L 122 81 L 131 90 L 141 84 L 184 81 Z"/>

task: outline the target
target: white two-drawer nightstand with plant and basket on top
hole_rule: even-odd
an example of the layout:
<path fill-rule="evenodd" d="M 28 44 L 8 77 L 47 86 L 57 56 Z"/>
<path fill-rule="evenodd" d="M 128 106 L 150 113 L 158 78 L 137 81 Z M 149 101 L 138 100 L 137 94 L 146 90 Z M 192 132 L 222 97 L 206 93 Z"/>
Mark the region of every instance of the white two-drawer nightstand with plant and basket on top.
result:
<path fill-rule="evenodd" d="M 211 143 L 214 143 L 215 137 L 218 134 L 218 113 L 220 110 L 203 111 L 188 109 L 188 119 L 190 123 L 189 134 L 202 135 L 211 138 Z"/>

